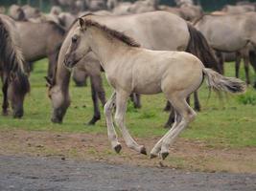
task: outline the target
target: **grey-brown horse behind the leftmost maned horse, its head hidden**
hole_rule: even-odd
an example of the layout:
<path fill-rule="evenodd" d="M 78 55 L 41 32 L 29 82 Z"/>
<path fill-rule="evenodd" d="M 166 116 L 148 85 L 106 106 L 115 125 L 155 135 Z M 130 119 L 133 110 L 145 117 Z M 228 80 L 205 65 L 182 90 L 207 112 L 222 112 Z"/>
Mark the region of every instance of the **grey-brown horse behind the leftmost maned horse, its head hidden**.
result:
<path fill-rule="evenodd" d="M 42 23 L 14 22 L 20 35 L 20 48 L 27 62 L 47 57 L 49 59 L 48 76 L 55 70 L 58 46 L 65 30 L 52 21 Z"/>

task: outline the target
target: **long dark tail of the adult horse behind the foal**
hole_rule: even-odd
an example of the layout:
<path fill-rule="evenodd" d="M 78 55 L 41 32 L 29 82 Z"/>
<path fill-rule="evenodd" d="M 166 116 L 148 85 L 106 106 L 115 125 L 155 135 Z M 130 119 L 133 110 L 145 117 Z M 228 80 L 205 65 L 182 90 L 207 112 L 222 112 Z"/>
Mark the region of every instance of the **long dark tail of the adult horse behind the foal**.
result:
<path fill-rule="evenodd" d="M 220 63 L 217 61 L 212 48 L 201 32 L 188 23 L 190 41 L 186 52 L 196 55 L 206 68 L 211 68 L 221 73 Z"/>

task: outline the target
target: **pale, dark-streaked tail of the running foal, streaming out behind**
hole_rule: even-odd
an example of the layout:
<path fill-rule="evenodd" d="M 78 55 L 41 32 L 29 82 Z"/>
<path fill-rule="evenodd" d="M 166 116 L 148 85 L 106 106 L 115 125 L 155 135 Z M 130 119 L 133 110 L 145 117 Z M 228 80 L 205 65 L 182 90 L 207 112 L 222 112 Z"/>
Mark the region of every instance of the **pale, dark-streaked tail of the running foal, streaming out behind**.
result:
<path fill-rule="evenodd" d="M 239 94 L 246 91 L 245 82 L 239 78 L 226 77 L 207 68 L 203 68 L 202 72 L 206 76 L 207 85 L 210 90 L 218 93 L 225 92 L 231 94 Z"/>

